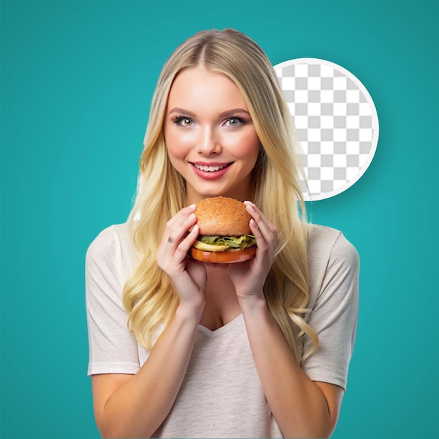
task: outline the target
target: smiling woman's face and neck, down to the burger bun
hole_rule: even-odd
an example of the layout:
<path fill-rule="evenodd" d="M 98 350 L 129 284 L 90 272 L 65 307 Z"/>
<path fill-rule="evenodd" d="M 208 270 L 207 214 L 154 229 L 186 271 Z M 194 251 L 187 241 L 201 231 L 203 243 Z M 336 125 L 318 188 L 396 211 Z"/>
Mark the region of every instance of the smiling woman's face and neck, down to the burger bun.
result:
<path fill-rule="evenodd" d="M 252 197 L 259 139 L 243 95 L 227 76 L 202 68 L 177 75 L 166 107 L 168 156 L 186 180 L 187 203 Z"/>

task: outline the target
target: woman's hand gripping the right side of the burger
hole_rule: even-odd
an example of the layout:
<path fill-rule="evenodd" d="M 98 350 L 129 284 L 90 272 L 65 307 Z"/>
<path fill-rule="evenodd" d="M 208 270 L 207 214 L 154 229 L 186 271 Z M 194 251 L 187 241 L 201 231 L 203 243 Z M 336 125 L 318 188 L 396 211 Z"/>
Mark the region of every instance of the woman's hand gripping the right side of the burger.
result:
<path fill-rule="evenodd" d="M 273 264 L 276 226 L 250 201 L 244 201 L 252 216 L 250 230 L 255 235 L 257 249 L 255 256 L 245 262 L 229 264 L 229 276 L 234 283 L 236 295 L 243 299 L 263 298 L 266 276 Z"/>

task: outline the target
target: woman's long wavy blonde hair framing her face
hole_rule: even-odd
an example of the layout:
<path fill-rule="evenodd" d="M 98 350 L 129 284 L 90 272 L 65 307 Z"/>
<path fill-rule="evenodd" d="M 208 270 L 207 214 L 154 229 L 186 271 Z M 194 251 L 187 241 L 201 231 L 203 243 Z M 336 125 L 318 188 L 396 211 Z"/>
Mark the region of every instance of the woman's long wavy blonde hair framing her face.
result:
<path fill-rule="evenodd" d="M 261 142 L 253 170 L 253 201 L 278 230 L 264 295 L 300 362 L 316 350 L 318 337 L 305 321 L 309 311 L 308 224 L 299 188 L 296 130 L 269 59 L 254 41 L 234 29 L 202 31 L 187 39 L 168 58 L 158 78 L 140 157 L 137 198 L 129 218 L 140 264 L 123 288 L 128 325 L 138 342 L 151 349 L 154 330 L 172 320 L 179 303 L 155 260 L 166 222 L 186 205 L 184 180 L 168 159 L 163 122 L 175 76 L 197 66 L 225 74 L 236 83 Z M 304 335 L 312 342 L 307 353 L 302 353 Z"/>

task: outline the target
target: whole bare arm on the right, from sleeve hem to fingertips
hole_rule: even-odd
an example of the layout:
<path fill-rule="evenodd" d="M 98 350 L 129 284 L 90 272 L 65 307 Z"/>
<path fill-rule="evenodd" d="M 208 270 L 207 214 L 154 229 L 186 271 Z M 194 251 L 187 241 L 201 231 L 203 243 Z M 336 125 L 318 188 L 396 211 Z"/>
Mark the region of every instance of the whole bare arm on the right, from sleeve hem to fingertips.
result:
<path fill-rule="evenodd" d="M 247 266 L 236 264 L 229 271 L 267 402 L 285 437 L 329 437 L 344 390 L 308 377 L 267 308 L 262 285 L 271 267 L 276 228 L 255 205 L 247 205 L 257 253 Z"/>

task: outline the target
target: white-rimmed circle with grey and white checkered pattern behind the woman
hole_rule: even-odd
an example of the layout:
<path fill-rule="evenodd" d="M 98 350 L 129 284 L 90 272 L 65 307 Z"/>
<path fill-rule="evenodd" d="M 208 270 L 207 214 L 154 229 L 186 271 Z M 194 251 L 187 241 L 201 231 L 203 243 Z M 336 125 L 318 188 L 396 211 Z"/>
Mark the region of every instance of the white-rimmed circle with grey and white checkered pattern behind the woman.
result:
<path fill-rule="evenodd" d="M 372 97 L 356 76 L 333 62 L 298 58 L 274 69 L 302 146 L 304 199 L 342 193 L 365 173 L 377 149 Z"/>

